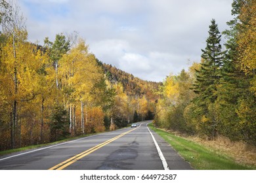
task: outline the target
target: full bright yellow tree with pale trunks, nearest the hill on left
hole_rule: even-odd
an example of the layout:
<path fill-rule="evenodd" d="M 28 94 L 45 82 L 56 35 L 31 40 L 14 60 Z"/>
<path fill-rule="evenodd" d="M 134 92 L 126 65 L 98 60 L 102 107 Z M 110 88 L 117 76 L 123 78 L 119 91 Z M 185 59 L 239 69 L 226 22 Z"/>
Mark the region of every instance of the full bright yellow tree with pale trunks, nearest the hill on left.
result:
<path fill-rule="evenodd" d="M 64 105 L 69 108 L 70 133 L 77 129 L 85 133 L 85 124 L 89 122 L 89 109 L 106 107 L 108 97 L 104 75 L 96 63 L 96 58 L 88 52 L 88 45 L 80 39 L 68 54 L 59 60 L 59 77 Z M 80 110 L 80 116 L 77 111 Z M 100 114 L 100 112 L 97 112 Z M 104 117 L 104 116 L 103 116 Z M 103 123 L 102 117 L 102 123 Z M 77 126 L 79 124 L 79 127 Z"/>

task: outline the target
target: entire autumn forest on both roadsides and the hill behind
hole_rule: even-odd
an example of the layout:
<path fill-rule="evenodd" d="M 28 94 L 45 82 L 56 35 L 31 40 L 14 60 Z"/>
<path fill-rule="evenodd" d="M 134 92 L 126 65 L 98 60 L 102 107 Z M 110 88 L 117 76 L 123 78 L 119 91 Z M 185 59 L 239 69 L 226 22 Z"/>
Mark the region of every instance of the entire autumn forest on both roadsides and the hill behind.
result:
<path fill-rule="evenodd" d="M 254 0 L 234 0 L 222 33 L 209 20 L 201 62 L 163 82 L 99 61 L 76 32 L 34 44 L 20 8 L 0 2 L 0 150 L 153 119 L 187 135 L 256 145 Z"/>

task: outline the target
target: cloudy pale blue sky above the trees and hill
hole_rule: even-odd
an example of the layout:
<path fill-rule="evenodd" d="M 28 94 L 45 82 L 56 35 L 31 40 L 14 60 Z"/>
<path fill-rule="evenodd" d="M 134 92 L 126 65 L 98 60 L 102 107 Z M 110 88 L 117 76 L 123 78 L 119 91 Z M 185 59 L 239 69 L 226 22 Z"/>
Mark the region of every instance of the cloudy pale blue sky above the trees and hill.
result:
<path fill-rule="evenodd" d="M 28 39 L 43 44 L 74 31 L 90 52 L 143 80 L 166 76 L 200 62 L 209 25 L 219 31 L 232 20 L 232 0 L 20 0 Z M 224 43 L 224 36 L 223 43 Z"/>

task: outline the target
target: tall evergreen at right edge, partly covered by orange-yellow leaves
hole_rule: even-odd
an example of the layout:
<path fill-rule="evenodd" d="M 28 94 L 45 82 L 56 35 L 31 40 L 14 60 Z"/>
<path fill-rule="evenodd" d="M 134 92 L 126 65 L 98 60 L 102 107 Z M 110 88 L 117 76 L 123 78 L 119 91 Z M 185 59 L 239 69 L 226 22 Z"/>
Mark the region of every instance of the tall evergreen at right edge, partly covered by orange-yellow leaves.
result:
<path fill-rule="evenodd" d="M 254 24 L 252 21 L 255 20 L 253 19 L 253 8 L 255 9 L 255 3 L 250 0 L 235 0 L 232 3 L 234 19 L 227 22 L 230 29 L 224 31 L 224 35 L 228 38 L 225 44 L 228 52 L 226 59 L 224 59 L 222 84 L 218 94 L 221 96 L 219 97 L 222 120 L 221 133 L 230 139 L 242 139 L 250 144 L 256 142 L 256 96 L 253 93 L 252 82 L 253 77 L 255 77 L 255 70 L 253 67 L 247 67 L 251 70 L 245 69 L 244 63 L 253 63 L 251 61 L 253 52 L 245 51 L 247 48 L 250 50 L 255 45 L 255 43 L 253 44 L 255 36 L 251 34 L 253 33 L 251 30 L 255 29 L 255 21 Z M 250 35 L 249 38 L 248 35 Z M 245 44 L 244 41 L 247 43 Z"/>

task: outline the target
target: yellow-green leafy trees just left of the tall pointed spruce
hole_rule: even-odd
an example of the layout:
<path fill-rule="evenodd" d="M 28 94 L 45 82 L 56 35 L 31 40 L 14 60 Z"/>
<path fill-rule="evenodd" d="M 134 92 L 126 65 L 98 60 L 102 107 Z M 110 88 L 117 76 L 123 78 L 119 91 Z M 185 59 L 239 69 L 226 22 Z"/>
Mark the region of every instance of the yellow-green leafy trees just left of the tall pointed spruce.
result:
<path fill-rule="evenodd" d="M 194 133 L 192 125 L 184 115 L 186 107 L 194 97 L 190 73 L 181 71 L 178 76 L 168 76 L 161 87 L 162 99 L 158 101 L 156 124 L 161 127 Z"/>

